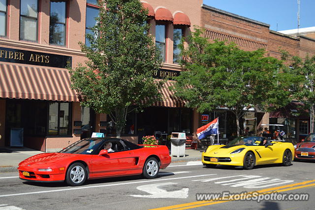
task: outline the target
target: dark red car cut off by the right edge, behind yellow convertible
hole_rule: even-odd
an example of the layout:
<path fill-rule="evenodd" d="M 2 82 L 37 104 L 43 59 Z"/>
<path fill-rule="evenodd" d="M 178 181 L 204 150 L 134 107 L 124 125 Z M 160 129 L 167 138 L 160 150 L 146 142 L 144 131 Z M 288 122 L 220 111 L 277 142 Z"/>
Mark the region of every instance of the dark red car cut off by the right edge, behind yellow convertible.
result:
<path fill-rule="evenodd" d="M 310 133 L 305 140 L 294 145 L 294 150 L 297 160 L 315 160 L 315 133 Z"/>

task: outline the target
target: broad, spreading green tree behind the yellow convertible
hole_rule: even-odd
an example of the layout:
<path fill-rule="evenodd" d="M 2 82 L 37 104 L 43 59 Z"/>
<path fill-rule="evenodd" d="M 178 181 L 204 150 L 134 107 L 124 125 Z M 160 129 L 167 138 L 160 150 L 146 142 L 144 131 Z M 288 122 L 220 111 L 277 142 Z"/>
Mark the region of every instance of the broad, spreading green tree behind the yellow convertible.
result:
<path fill-rule="evenodd" d="M 188 43 L 186 48 L 180 46 L 187 71 L 176 78 L 176 95 L 198 112 L 221 105 L 229 108 L 236 116 L 237 136 L 239 120 L 250 108 L 270 111 L 290 102 L 287 87 L 294 79 L 279 73 L 282 62 L 266 57 L 263 49 L 244 51 L 234 43 L 211 43 L 200 29 L 188 37 Z"/>

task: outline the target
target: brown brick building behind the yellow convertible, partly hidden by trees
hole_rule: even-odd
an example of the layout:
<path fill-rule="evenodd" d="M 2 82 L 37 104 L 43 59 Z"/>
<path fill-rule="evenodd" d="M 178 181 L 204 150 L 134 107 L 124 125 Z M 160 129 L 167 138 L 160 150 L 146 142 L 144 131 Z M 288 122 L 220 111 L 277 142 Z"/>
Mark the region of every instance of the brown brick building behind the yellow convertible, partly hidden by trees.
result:
<path fill-rule="evenodd" d="M 306 55 L 315 55 L 315 39 L 310 33 L 299 36 L 285 35 L 280 32 L 275 32 L 269 29 L 269 25 L 261 23 L 246 17 L 232 14 L 208 5 L 202 5 L 201 10 L 201 27 L 205 28 L 205 36 L 210 40 L 219 39 L 234 42 L 241 49 L 256 50 L 264 48 L 269 56 L 280 59 L 280 49 L 286 50 L 291 56 L 305 57 Z M 313 27 L 314 28 L 314 27 Z M 302 30 L 302 29 L 301 29 Z M 297 103 L 292 102 L 289 107 L 296 111 Z M 226 110 L 217 110 L 210 113 L 214 117 L 221 116 L 222 125 L 221 133 L 231 135 L 235 131 L 227 131 L 227 124 L 234 124 L 233 116 Z M 286 132 L 287 138 L 295 140 L 303 138 L 308 134 L 309 119 L 308 116 L 293 117 L 284 111 L 276 113 L 261 113 L 259 110 L 252 110 L 244 117 L 244 128 L 250 127 L 258 133 L 266 124 L 282 124 L 280 129 Z M 268 126 L 266 126 L 268 127 Z M 270 130 L 277 129 L 275 126 L 270 126 Z"/>

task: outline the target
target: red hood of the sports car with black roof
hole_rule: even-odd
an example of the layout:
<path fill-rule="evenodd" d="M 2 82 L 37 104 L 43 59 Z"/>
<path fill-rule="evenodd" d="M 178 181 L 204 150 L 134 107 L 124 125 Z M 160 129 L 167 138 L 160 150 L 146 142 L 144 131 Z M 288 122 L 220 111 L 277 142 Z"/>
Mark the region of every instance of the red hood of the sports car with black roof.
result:
<path fill-rule="evenodd" d="M 51 166 L 57 162 L 65 162 L 67 158 L 73 157 L 76 154 L 67 154 L 67 153 L 42 153 L 34 155 L 24 161 L 22 161 L 19 166 Z"/>

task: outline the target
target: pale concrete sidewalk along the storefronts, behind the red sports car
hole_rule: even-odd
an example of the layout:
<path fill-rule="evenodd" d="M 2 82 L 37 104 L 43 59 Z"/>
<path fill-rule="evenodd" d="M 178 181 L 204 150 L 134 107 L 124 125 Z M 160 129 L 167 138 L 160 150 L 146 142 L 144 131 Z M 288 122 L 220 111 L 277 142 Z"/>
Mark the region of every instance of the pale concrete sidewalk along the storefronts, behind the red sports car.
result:
<path fill-rule="evenodd" d="M 172 157 L 172 162 L 187 162 L 201 160 L 202 150 L 186 149 L 185 157 Z M 0 173 L 17 172 L 19 163 L 33 155 L 44 153 L 27 147 L 1 147 Z"/>

